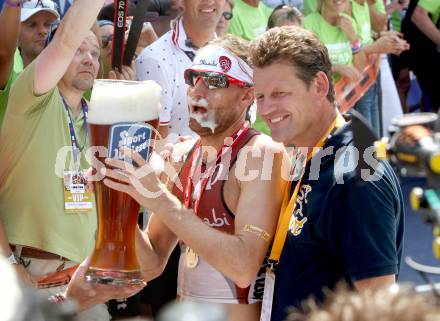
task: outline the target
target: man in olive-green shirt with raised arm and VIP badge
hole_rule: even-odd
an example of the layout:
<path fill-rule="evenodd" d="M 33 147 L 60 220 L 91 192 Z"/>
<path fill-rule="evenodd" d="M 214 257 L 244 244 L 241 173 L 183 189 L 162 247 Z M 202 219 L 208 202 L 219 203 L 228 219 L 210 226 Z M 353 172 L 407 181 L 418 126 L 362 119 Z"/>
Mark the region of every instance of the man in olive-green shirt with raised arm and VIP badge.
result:
<path fill-rule="evenodd" d="M 90 28 L 103 2 L 73 3 L 51 43 L 14 83 L 0 135 L 4 255 L 23 280 L 47 296 L 64 291 L 74 266 L 90 254 L 96 231 L 94 198 L 84 175 L 89 137 L 83 95 L 99 70 L 99 43 Z M 67 162 L 57 168 L 65 149 Z M 106 297 L 127 297 L 142 287 L 106 286 Z M 84 296 L 98 291 L 101 287 L 91 285 Z M 78 320 L 109 318 L 101 304 Z"/>

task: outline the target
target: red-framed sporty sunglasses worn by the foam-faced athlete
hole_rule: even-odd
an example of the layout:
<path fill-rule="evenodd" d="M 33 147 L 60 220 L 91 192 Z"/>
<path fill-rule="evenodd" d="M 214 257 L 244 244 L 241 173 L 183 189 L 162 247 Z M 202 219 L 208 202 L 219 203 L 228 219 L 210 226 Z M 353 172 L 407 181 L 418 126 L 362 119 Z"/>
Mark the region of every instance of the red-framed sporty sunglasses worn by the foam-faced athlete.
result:
<path fill-rule="evenodd" d="M 236 85 L 242 88 L 253 86 L 253 84 L 249 84 L 244 81 L 229 77 L 228 75 L 212 71 L 195 71 L 188 69 L 185 70 L 184 76 L 185 83 L 191 87 L 194 87 L 199 79 L 202 79 L 203 83 L 209 89 L 228 88 L 230 85 Z"/>

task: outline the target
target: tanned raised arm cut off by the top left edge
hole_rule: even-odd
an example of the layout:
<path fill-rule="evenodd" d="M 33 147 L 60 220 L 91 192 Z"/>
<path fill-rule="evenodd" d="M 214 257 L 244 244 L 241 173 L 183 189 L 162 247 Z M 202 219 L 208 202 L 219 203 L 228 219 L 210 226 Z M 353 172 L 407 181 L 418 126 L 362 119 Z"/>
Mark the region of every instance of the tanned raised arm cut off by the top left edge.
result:
<path fill-rule="evenodd" d="M 11 0 L 11 3 L 20 3 L 20 0 Z M 6 3 L 0 13 L 0 90 L 4 89 L 14 62 L 14 53 L 17 49 L 18 35 L 20 32 L 20 6 L 14 7 Z"/>

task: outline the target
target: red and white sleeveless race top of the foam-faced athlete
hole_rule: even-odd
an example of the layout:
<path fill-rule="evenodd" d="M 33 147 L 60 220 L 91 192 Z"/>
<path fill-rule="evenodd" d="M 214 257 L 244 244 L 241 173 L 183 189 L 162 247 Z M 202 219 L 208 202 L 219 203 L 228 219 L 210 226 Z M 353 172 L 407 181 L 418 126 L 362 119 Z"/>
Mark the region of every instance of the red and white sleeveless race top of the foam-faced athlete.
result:
<path fill-rule="evenodd" d="M 259 133 L 253 129 L 246 130 L 242 137 L 237 140 L 228 151 L 230 157 L 222 158 L 227 161 L 219 161 L 217 163 L 204 191 L 200 193 L 200 190 L 197 188 L 192 189 L 191 194 L 193 197 L 189 207 L 194 208 L 194 204 L 197 203 L 197 215 L 208 226 L 224 233 L 234 233 L 235 215 L 228 208 L 223 198 L 225 179 L 235 164 L 240 149 L 258 134 Z M 196 144 L 196 147 L 189 153 L 187 161 L 179 175 L 180 181 L 184 186 L 185 183 L 188 182 L 188 177 L 192 172 L 191 167 L 194 155 L 198 154 L 197 146 L 198 144 Z M 207 171 L 209 171 L 209 169 L 207 169 Z M 185 191 L 181 191 L 176 186 L 173 188 L 173 194 L 176 195 L 182 203 L 185 203 L 184 192 Z M 200 198 L 199 202 L 197 202 L 198 198 Z M 212 250 L 215 251 L 215 249 Z M 243 289 L 217 271 L 202 257 L 198 257 L 198 263 L 195 267 L 188 267 L 186 252 L 186 244 L 181 244 L 177 289 L 180 298 L 225 304 L 252 304 L 261 301 L 264 289 L 264 267 L 261 267 L 256 280 L 252 282 L 251 286 Z"/>

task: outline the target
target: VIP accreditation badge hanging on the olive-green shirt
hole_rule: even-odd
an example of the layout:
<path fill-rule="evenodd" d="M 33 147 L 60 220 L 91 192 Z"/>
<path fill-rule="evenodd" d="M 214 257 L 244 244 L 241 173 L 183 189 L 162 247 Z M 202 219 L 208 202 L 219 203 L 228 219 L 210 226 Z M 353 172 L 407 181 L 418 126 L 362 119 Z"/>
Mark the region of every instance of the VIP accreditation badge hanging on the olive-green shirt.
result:
<path fill-rule="evenodd" d="M 82 171 L 64 172 L 64 210 L 66 213 L 90 213 L 93 209 L 93 193 Z"/>

